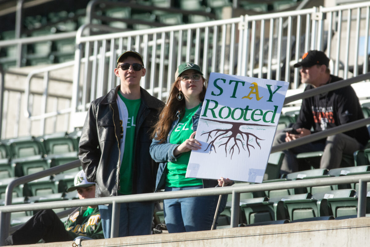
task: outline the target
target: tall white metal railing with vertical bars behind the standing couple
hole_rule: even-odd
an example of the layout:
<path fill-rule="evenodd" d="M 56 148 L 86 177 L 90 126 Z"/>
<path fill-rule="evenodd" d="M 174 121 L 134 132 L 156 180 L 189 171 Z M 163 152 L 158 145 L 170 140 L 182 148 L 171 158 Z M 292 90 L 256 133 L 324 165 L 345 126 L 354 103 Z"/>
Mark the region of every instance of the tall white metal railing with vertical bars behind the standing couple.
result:
<path fill-rule="evenodd" d="M 369 10 L 366 1 L 97 36 L 78 31 L 72 107 L 85 111 L 91 100 L 119 84 L 113 74 L 116 59 L 129 49 L 144 58 L 141 86 L 162 100 L 176 67 L 185 61 L 199 64 L 206 75 L 285 80 L 297 88 L 299 69 L 293 64 L 318 49 L 332 58 L 333 74 L 346 79 L 366 73 Z"/>

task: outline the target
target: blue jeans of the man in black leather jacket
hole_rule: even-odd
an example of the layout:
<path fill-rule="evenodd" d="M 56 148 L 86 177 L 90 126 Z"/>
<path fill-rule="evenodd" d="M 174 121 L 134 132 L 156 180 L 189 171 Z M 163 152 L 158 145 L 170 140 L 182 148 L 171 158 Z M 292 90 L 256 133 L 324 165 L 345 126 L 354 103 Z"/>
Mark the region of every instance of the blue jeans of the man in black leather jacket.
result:
<path fill-rule="evenodd" d="M 112 204 L 99 205 L 105 238 L 111 237 Z M 154 203 L 121 203 L 118 237 L 149 235 L 152 228 Z"/>

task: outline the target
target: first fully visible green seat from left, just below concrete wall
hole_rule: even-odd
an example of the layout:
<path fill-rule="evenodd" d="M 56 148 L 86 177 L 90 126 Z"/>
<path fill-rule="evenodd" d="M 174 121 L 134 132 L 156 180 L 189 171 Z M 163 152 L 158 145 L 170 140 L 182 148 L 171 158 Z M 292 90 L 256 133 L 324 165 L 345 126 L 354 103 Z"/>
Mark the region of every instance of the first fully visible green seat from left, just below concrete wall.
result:
<path fill-rule="evenodd" d="M 8 143 L 14 158 L 45 154 L 43 145 L 33 136 L 10 139 Z"/>

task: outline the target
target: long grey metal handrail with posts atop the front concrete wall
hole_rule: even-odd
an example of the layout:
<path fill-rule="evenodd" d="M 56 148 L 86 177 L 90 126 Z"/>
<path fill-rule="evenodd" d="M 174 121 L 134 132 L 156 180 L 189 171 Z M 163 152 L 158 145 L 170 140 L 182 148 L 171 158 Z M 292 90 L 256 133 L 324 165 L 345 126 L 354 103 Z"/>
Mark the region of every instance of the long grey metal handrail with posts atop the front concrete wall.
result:
<path fill-rule="evenodd" d="M 325 179 L 314 178 L 307 180 L 292 180 L 282 181 L 274 183 L 261 183 L 261 184 L 248 184 L 241 186 L 228 186 L 218 188 L 203 188 L 195 190 L 182 190 L 182 191 L 166 191 L 162 193 L 146 193 L 146 194 L 134 194 L 126 196 L 114 196 L 114 197 L 100 197 L 100 198 L 89 198 L 84 200 L 69 200 L 69 201 L 58 201 L 57 206 L 55 202 L 44 202 L 35 204 L 17 204 L 9 206 L 0 206 L 1 219 L 0 219 L 0 244 L 3 244 L 5 238 L 5 232 L 9 228 L 9 224 L 4 222 L 4 214 L 11 212 L 19 212 L 25 210 L 41 210 L 49 208 L 65 208 L 65 207 L 79 207 L 79 206 L 91 206 L 91 205 L 103 205 L 113 204 L 113 208 L 118 208 L 120 203 L 129 203 L 137 201 L 158 201 L 172 198 L 184 198 L 184 197 L 195 197 L 195 196 L 215 196 L 232 194 L 232 206 L 231 206 L 231 227 L 238 226 L 239 218 L 239 203 L 240 193 L 266 191 L 266 190 L 278 190 L 278 189 L 290 189 L 290 188 L 303 188 L 313 186 L 327 186 L 333 184 L 347 184 L 347 183 L 359 183 L 358 193 L 358 206 L 357 206 L 357 217 L 364 217 L 366 215 L 366 182 L 370 181 L 370 174 L 360 174 L 351 176 L 340 176 L 340 177 L 328 177 Z M 114 218 L 114 217 L 112 217 Z M 118 220 L 112 221 L 112 237 L 118 237 Z"/>

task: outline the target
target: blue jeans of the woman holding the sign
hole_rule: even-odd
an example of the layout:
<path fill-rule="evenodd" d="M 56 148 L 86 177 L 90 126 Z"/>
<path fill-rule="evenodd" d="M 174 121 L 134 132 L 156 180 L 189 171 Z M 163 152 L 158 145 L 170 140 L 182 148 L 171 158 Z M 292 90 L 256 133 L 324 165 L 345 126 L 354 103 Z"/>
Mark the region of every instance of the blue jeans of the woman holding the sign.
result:
<path fill-rule="evenodd" d="M 203 186 L 165 187 L 165 191 L 192 190 L 197 188 L 203 188 Z M 164 217 L 168 232 L 182 233 L 185 231 L 211 230 L 218 198 L 219 196 L 201 196 L 164 200 Z M 215 228 L 218 217 L 225 209 L 226 201 L 227 195 L 222 196 Z"/>

